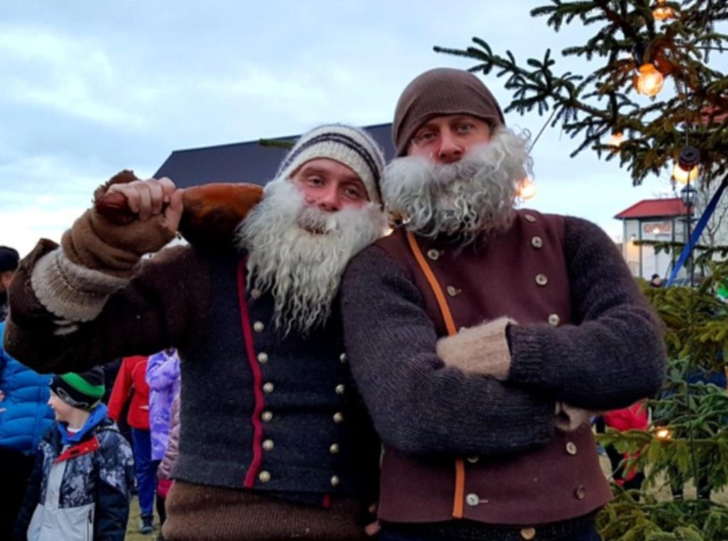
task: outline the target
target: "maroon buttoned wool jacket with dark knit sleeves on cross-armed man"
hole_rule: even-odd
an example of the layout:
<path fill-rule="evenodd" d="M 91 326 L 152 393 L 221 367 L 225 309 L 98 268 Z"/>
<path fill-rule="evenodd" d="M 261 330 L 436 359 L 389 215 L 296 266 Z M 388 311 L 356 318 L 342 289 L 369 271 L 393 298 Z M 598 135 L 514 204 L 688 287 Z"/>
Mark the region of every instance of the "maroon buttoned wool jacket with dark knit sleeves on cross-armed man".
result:
<path fill-rule="evenodd" d="M 462 518 L 537 526 L 604 505 L 612 495 L 592 432 L 555 432 L 554 404 L 629 404 L 659 389 L 665 362 L 661 325 L 612 241 L 583 220 L 518 211 L 507 232 L 480 244 L 418 243 L 456 327 L 518 322 L 513 362 L 506 382 L 443 365 L 435 345 L 445 324 L 403 230 L 352 261 L 344 331 L 385 444 L 380 518 L 447 521 L 462 501 Z M 644 379 L 614 377 L 625 371 Z"/>

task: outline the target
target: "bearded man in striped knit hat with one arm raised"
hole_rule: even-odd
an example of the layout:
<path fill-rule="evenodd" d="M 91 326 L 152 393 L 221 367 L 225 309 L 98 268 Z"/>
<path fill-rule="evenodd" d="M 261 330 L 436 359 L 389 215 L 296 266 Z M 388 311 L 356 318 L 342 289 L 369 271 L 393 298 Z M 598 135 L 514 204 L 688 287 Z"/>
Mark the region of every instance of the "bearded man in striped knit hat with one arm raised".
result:
<path fill-rule="evenodd" d="M 181 421 L 165 540 L 360 540 L 379 439 L 352 384 L 336 297 L 387 221 L 384 157 L 367 133 L 306 133 L 227 249 L 175 246 L 183 190 L 111 184 L 136 218 L 91 209 L 41 241 L 12 282 L 5 347 L 36 370 L 181 358 Z M 168 205 L 165 205 L 168 202 Z"/>

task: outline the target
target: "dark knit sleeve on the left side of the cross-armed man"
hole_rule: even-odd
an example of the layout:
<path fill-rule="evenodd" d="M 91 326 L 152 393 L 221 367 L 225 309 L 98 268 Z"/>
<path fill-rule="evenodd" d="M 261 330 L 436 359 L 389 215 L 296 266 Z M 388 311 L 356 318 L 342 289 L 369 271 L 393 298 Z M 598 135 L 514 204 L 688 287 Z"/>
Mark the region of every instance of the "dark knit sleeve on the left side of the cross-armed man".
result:
<path fill-rule="evenodd" d="M 378 246 L 341 284 L 352 373 L 384 443 L 408 454 L 510 454 L 553 435 L 553 400 L 446 367 L 419 289 Z"/>

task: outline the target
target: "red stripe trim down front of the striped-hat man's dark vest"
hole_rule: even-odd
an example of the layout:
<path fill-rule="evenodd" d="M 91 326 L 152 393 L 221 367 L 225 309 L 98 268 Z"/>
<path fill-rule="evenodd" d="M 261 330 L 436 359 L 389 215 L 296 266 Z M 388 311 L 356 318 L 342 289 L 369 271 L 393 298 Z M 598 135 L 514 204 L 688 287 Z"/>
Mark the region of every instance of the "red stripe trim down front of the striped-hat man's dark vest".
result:
<path fill-rule="evenodd" d="M 242 486 L 245 489 L 252 489 L 256 483 L 256 475 L 261 469 L 263 462 L 263 424 L 261 423 L 261 413 L 263 413 L 263 374 L 261 367 L 256 362 L 256 352 L 253 349 L 253 332 L 250 330 L 250 314 L 248 313 L 248 303 L 245 300 L 245 258 L 241 258 L 237 264 L 237 300 L 240 304 L 240 324 L 242 326 L 242 335 L 245 338 L 245 352 L 248 354 L 248 365 L 253 373 L 253 395 L 256 397 L 256 407 L 253 408 L 253 417 L 250 422 L 253 423 L 253 460 L 248 467 L 248 473 Z"/>

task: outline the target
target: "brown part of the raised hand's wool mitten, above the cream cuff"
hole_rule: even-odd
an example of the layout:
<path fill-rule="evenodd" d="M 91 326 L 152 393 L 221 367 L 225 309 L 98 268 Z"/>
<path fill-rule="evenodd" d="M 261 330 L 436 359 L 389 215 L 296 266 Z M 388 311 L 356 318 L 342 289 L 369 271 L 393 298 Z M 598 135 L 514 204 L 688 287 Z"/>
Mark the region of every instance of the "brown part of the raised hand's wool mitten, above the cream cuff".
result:
<path fill-rule="evenodd" d="M 112 184 L 135 180 L 138 178 L 132 171 L 121 171 L 95 190 L 95 208 L 84 212 L 63 234 L 61 246 L 68 260 L 111 276 L 129 278 L 143 254 L 157 252 L 175 237 L 164 214 L 146 220 L 134 216 L 124 219 L 123 215 L 122 219 L 114 219 L 113 214 L 99 211 L 98 203 Z M 120 194 L 109 195 L 124 199 Z M 119 206 L 122 204 L 125 207 L 125 201 L 120 201 Z"/>

